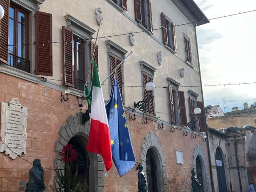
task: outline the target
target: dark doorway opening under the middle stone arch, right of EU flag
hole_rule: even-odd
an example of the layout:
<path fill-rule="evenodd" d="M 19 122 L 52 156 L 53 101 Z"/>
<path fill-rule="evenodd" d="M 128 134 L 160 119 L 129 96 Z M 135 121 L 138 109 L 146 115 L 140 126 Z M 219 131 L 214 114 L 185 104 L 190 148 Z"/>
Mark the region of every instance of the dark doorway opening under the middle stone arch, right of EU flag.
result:
<path fill-rule="evenodd" d="M 154 160 L 154 155 L 152 149 L 148 149 L 146 155 L 146 172 L 148 181 L 148 192 L 158 192 L 157 191 L 157 166 Z"/>

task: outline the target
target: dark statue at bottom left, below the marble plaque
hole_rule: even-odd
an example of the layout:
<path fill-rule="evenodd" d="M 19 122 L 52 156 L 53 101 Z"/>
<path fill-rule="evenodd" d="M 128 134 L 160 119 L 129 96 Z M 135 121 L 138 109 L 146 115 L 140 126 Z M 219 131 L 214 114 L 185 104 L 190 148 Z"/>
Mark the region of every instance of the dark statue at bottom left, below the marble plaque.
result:
<path fill-rule="evenodd" d="M 25 192 L 43 192 L 44 190 L 44 169 L 41 167 L 41 160 L 35 159 L 33 167 L 29 170 L 29 182 L 26 183 Z"/>

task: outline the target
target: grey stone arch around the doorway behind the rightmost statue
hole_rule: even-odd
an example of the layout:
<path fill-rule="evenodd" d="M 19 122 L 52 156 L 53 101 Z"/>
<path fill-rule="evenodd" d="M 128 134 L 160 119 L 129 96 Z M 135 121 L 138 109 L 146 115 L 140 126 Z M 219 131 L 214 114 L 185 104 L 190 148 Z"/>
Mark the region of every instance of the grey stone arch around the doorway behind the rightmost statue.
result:
<path fill-rule="evenodd" d="M 202 166 L 202 172 L 203 172 L 203 178 L 204 178 L 204 191 L 209 191 L 209 175 L 208 175 L 208 171 L 207 171 L 207 162 L 205 159 L 205 155 L 203 152 L 203 149 L 200 145 L 196 144 L 194 147 L 194 152 L 193 152 L 193 161 L 192 161 L 192 165 L 193 168 L 195 169 L 196 172 L 196 158 L 199 157 L 199 160 L 201 162 L 201 166 Z M 203 169 L 204 167 L 204 169 Z"/>

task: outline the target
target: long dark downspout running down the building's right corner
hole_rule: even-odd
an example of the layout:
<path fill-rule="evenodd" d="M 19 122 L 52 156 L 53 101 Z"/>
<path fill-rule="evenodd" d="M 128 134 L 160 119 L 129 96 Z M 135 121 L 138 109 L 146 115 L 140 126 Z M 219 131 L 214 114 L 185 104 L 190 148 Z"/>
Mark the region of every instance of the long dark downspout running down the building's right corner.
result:
<path fill-rule="evenodd" d="M 198 55 L 198 70 L 199 70 L 199 77 L 200 77 L 202 102 L 203 102 L 203 107 L 204 107 L 204 95 L 203 95 L 203 87 L 202 87 L 202 78 L 201 78 L 201 70 L 200 70 L 200 61 L 199 61 L 199 52 L 198 52 L 196 29 L 195 29 L 195 40 L 196 40 L 196 49 L 197 49 L 197 55 Z M 204 118 L 204 123 L 205 123 L 205 125 L 207 125 L 206 124 L 206 118 Z M 208 160 L 209 160 L 211 186 L 212 186 L 212 192 L 215 192 L 215 190 L 214 190 L 214 183 L 213 183 L 213 179 L 212 179 L 212 161 L 211 161 L 211 154 L 210 154 L 210 147 L 209 147 L 208 126 L 206 126 L 206 136 L 207 136 L 207 154 L 208 154 Z"/>

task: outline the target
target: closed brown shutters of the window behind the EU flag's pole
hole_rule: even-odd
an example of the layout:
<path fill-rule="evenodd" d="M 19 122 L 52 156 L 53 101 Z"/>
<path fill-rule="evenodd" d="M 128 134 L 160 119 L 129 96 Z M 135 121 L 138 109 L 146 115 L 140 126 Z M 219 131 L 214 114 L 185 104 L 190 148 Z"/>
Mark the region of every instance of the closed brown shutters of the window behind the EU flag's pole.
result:
<path fill-rule="evenodd" d="M 109 55 L 109 61 L 110 61 L 110 73 L 112 73 L 112 71 L 117 67 L 117 65 L 119 65 L 121 63 L 121 60 L 110 54 Z M 112 73 L 112 75 L 111 75 L 111 86 L 113 85 L 114 76 L 115 76 L 115 73 Z M 120 90 L 121 97 L 122 97 L 122 100 L 123 100 L 122 66 L 121 65 L 116 69 L 116 78 L 117 78 L 117 81 L 118 81 L 119 90 Z"/>

